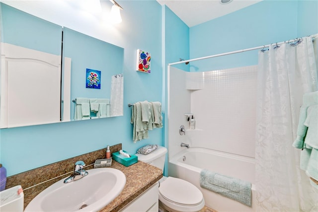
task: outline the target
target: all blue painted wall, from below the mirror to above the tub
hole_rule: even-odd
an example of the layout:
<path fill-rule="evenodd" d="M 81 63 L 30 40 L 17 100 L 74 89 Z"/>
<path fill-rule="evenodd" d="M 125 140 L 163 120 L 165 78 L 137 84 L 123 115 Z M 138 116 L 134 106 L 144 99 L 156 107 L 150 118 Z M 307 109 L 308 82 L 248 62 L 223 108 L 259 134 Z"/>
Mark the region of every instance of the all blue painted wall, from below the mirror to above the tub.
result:
<path fill-rule="evenodd" d="M 190 29 L 156 0 L 119 0 L 119 4 L 125 8 L 123 22 L 114 32 L 105 31 L 105 37 L 118 41 L 125 49 L 124 116 L 1 129 L 0 162 L 7 168 L 8 176 L 108 144 L 123 143 L 123 148 L 131 153 L 147 143 L 162 144 L 165 128 L 150 131 L 150 139 L 133 143 L 131 108 L 126 105 L 142 100 L 164 102 L 164 70 L 168 63 L 318 33 L 316 0 L 264 0 Z M 150 74 L 135 71 L 136 49 L 152 54 Z M 257 51 L 192 62 L 188 66 L 190 71 L 207 71 L 255 64 Z M 188 69 L 183 64 L 179 66 Z M 98 135 L 97 139 L 92 132 Z"/>

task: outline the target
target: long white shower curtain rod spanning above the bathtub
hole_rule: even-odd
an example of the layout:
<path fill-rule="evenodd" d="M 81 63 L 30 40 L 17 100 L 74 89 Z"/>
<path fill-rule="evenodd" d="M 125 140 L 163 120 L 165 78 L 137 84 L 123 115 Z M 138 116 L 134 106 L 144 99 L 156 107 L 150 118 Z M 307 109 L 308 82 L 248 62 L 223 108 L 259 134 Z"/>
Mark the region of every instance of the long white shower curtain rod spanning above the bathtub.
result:
<path fill-rule="evenodd" d="M 307 36 L 307 37 L 309 37 L 309 36 Z M 310 35 L 310 37 L 315 39 L 315 38 L 318 37 L 318 34 Z M 192 62 L 192 61 L 204 60 L 204 59 L 208 59 L 208 58 L 216 58 L 216 57 L 225 56 L 225 55 L 232 55 L 232 54 L 241 53 L 241 52 L 247 52 L 247 51 L 256 50 L 256 49 L 263 49 L 263 48 L 267 48 L 267 47 L 269 47 L 271 45 L 280 45 L 280 44 L 283 44 L 283 43 L 286 43 L 286 42 L 288 42 L 288 43 L 289 42 L 295 42 L 295 41 L 298 41 L 299 39 L 303 39 L 303 38 L 296 38 L 296 39 L 292 39 L 292 40 L 288 40 L 288 41 L 282 41 L 282 42 L 279 42 L 279 43 L 273 43 L 273 44 L 258 46 L 258 47 L 249 48 L 249 49 L 242 49 L 242 50 L 233 51 L 233 52 L 227 52 L 227 53 L 222 53 L 222 54 L 217 54 L 217 55 L 206 56 L 206 57 L 202 57 L 202 58 L 195 58 L 195 59 L 191 59 L 191 60 L 170 63 L 170 64 L 168 64 L 168 66 L 172 66 L 172 65 L 176 65 L 176 64 L 183 64 L 183 63 Z"/>

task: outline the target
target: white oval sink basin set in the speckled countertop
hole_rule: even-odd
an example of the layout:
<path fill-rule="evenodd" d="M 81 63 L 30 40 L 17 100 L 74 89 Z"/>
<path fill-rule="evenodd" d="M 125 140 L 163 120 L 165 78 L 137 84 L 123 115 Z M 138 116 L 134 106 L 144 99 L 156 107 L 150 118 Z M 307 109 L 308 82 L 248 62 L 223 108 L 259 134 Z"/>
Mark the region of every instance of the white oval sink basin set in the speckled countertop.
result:
<path fill-rule="evenodd" d="M 62 179 L 40 194 L 24 212 L 94 212 L 114 200 L 126 184 L 125 174 L 114 168 L 87 170 L 88 175 L 64 183 Z"/>

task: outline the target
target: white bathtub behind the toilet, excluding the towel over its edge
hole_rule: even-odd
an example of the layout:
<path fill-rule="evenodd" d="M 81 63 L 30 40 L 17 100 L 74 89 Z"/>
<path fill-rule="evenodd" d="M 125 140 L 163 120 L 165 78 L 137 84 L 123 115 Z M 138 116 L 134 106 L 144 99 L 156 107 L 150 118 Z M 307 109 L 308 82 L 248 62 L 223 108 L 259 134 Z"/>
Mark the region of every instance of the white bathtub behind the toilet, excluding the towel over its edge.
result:
<path fill-rule="evenodd" d="M 169 159 L 168 175 L 186 180 L 200 189 L 205 205 L 218 212 L 254 212 L 255 159 L 212 149 L 190 147 Z M 208 169 L 252 183 L 252 207 L 200 187 L 200 171 Z"/>

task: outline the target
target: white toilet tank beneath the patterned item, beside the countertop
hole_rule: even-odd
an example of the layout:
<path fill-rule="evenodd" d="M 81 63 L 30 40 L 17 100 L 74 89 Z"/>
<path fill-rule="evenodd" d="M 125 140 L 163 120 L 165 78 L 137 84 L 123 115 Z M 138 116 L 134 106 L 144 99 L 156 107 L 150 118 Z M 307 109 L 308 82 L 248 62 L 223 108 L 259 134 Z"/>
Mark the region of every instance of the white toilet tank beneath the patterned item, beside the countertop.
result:
<path fill-rule="evenodd" d="M 138 160 L 149 163 L 150 165 L 156 166 L 163 171 L 165 153 L 167 149 L 163 146 L 159 146 L 155 151 L 150 152 L 149 154 L 135 154 L 138 156 Z"/>

